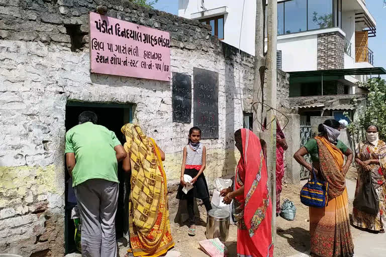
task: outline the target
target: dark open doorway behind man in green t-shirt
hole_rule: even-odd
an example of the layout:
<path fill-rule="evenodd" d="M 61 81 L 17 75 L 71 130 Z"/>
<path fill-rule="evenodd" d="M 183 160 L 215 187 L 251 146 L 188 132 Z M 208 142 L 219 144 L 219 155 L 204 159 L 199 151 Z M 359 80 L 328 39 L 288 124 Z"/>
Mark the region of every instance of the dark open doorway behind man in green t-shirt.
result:
<path fill-rule="evenodd" d="M 66 105 L 65 127 L 66 132 L 73 126 L 78 124 L 78 116 L 83 111 L 93 111 L 98 115 L 98 124 L 107 127 L 113 131 L 123 145 L 125 138 L 122 135 L 121 127 L 132 121 L 132 105 L 131 104 L 115 104 L 115 103 L 97 103 L 97 102 L 77 102 L 68 101 Z M 65 252 L 71 253 L 76 251 L 74 233 L 75 225 L 71 220 L 71 210 L 75 204 L 68 201 L 69 174 L 65 171 L 66 187 L 65 187 Z M 122 164 L 118 164 L 118 178 L 120 181 L 120 190 L 118 198 L 118 210 L 116 216 L 116 231 L 117 238 L 123 236 L 124 233 L 124 184 L 125 174 L 122 170 Z"/>

